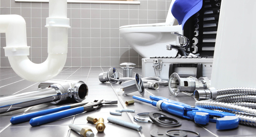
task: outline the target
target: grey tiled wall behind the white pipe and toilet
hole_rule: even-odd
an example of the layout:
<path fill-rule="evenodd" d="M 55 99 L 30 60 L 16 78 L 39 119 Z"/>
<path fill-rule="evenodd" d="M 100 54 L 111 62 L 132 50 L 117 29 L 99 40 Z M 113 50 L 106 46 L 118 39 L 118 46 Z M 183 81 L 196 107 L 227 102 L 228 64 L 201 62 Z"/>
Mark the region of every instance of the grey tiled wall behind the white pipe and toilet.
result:
<path fill-rule="evenodd" d="M 26 20 L 30 60 L 44 62 L 47 53 L 48 3 L 0 0 L 0 14 L 17 14 Z M 123 38 L 118 28 L 131 24 L 165 22 L 170 0 L 140 0 L 140 4 L 68 3 L 68 57 L 65 66 L 118 66 L 142 57 Z M 4 56 L 5 34 L 0 38 L 0 67 L 10 66 Z"/>

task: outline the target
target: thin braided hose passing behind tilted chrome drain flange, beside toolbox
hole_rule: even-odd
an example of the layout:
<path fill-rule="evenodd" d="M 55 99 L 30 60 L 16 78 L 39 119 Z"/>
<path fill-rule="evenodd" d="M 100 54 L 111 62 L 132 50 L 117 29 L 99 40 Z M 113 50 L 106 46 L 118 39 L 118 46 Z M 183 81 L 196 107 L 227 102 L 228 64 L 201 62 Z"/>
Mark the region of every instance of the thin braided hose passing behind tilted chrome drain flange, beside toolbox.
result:
<path fill-rule="evenodd" d="M 119 83 L 129 81 L 129 80 L 134 80 L 133 77 L 123 77 L 123 78 L 119 78 L 119 79 L 109 78 L 109 79 L 111 79 L 113 81 L 119 81 Z M 155 82 L 155 83 L 158 83 L 159 85 L 168 85 L 168 81 L 162 80 L 160 77 L 143 77 L 142 82 L 143 83 Z"/>

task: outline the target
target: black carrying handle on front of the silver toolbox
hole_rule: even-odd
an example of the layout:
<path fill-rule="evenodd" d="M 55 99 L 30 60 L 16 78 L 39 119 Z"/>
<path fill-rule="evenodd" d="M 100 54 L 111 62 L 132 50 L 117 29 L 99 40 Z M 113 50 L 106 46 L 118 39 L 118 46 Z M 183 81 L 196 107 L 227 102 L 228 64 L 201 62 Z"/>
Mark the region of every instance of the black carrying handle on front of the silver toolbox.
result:
<path fill-rule="evenodd" d="M 174 73 L 174 68 L 184 67 L 184 68 L 197 68 L 196 69 L 196 78 L 203 76 L 203 64 L 202 63 L 171 63 L 169 66 L 169 77 Z"/>

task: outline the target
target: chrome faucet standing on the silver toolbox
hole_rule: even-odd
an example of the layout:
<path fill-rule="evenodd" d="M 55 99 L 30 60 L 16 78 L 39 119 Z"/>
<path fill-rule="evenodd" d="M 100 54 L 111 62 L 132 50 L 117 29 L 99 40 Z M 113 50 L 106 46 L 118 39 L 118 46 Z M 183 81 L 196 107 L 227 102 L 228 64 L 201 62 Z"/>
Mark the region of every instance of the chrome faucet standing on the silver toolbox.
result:
<path fill-rule="evenodd" d="M 184 35 L 178 34 L 178 33 L 174 33 L 174 32 L 172 32 L 171 34 L 178 36 L 180 45 L 168 44 L 168 45 L 166 45 L 166 50 L 172 50 L 173 48 L 178 50 L 176 57 L 178 57 L 179 54 L 181 56 L 185 56 L 185 57 L 187 57 L 187 56 L 198 57 L 193 53 L 188 54 L 186 52 L 189 48 L 189 39 L 187 37 L 185 37 Z"/>

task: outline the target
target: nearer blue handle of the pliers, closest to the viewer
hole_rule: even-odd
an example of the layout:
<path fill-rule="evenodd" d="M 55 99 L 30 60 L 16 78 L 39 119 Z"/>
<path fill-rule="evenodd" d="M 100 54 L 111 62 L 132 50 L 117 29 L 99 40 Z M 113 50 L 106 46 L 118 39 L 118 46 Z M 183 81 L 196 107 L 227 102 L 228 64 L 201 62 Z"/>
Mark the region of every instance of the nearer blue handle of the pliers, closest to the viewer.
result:
<path fill-rule="evenodd" d="M 70 117 L 72 115 L 80 114 L 83 112 L 84 112 L 84 107 L 76 107 L 74 109 L 63 110 L 60 112 L 32 118 L 32 119 L 30 119 L 29 123 L 31 126 L 40 126 L 45 123 L 56 121 L 58 119 L 65 118 L 65 117 Z"/>

